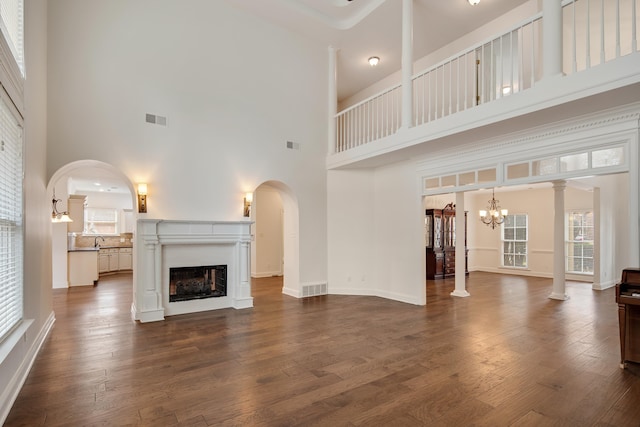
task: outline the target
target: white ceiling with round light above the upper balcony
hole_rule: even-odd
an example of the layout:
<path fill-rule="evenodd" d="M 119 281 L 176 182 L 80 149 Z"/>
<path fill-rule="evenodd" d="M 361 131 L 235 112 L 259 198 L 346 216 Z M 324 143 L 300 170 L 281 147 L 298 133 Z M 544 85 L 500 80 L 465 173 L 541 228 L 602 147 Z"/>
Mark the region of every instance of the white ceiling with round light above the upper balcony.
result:
<path fill-rule="evenodd" d="M 227 0 L 338 49 L 338 99 L 400 70 L 401 0 Z M 422 58 L 528 0 L 413 0 L 413 57 Z M 380 57 L 371 67 L 367 59 Z"/>

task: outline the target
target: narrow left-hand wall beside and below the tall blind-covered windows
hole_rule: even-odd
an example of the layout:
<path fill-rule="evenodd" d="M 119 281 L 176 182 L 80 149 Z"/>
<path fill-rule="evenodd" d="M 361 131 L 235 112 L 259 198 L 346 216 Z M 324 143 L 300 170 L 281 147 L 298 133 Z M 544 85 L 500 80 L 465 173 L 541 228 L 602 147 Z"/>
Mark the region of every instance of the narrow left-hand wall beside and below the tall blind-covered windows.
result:
<path fill-rule="evenodd" d="M 54 320 L 51 301 L 51 195 L 46 194 L 45 162 L 47 4 L 44 0 L 25 2 L 27 79 L 24 100 L 28 116 L 24 123 L 24 317 L 33 323 L 0 362 L 0 424 Z"/>

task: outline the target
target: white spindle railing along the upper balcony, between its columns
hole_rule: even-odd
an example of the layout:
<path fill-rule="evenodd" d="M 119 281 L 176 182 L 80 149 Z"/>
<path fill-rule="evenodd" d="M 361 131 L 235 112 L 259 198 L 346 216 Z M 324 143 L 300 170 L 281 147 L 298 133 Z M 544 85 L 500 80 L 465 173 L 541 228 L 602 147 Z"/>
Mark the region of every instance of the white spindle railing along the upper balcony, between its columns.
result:
<path fill-rule="evenodd" d="M 639 4 L 640 0 L 564 0 L 563 72 L 570 75 L 637 52 Z M 542 78 L 542 25 L 543 15 L 535 15 L 415 75 L 413 126 L 533 87 Z M 401 117 L 398 84 L 336 115 L 335 151 L 393 135 Z"/>

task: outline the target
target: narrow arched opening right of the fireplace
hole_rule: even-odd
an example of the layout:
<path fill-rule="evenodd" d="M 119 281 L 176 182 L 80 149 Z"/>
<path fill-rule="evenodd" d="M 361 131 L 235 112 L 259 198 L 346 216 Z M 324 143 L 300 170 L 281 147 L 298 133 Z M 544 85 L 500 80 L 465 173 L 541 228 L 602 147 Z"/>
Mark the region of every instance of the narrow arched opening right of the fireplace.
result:
<path fill-rule="evenodd" d="M 265 181 L 254 191 L 251 219 L 252 277 L 283 276 L 282 292 L 300 296 L 298 201 L 280 181 Z"/>

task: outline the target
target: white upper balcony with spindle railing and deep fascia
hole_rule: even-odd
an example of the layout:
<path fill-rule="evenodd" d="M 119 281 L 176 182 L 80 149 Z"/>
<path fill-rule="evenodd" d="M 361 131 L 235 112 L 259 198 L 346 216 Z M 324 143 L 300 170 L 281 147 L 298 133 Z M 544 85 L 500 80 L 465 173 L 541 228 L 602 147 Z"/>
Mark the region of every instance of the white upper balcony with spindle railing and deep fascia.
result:
<path fill-rule="evenodd" d="M 327 167 L 378 166 L 640 100 L 640 0 L 542 3 L 507 31 L 418 73 L 401 70 L 397 84 L 337 112 Z"/>

